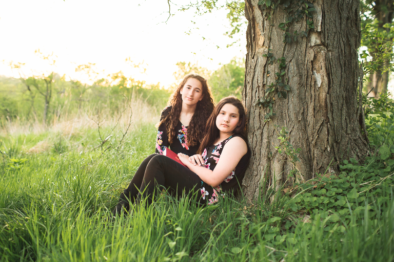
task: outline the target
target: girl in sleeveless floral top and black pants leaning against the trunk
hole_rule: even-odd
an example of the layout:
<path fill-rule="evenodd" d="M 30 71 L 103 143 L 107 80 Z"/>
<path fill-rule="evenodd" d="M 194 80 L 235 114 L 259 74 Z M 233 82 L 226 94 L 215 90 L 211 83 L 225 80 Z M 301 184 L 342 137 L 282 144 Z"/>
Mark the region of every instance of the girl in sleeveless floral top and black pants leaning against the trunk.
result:
<path fill-rule="evenodd" d="M 138 205 L 141 199 L 150 204 L 154 192 L 163 188 L 178 196 L 184 192 L 196 194 L 200 204 L 208 205 L 228 194 L 237 194 L 250 158 L 245 125 L 241 101 L 233 96 L 223 98 L 207 121 L 200 154 L 189 157 L 179 153 L 183 165 L 162 155 L 149 158 L 147 165 L 141 164 L 135 173 L 141 177 L 140 186 L 130 184 L 131 194 L 127 199 L 121 197 L 113 216 L 129 210 L 130 204 Z"/>

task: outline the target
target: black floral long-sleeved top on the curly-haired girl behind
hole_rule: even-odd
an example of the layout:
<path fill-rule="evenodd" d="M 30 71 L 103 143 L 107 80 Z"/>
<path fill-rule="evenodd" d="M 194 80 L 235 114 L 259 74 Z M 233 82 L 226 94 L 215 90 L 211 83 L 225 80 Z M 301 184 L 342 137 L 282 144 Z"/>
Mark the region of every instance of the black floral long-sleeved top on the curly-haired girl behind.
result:
<path fill-rule="evenodd" d="M 164 119 L 171 111 L 171 106 L 164 108 L 160 121 Z M 187 143 L 187 126 L 184 126 L 181 121 L 175 126 L 175 137 L 172 139 L 172 143 L 168 142 L 167 127 L 166 123 L 162 123 L 157 130 L 156 137 L 156 153 L 163 155 L 163 151 L 169 147 L 176 154 L 183 153 L 188 156 L 195 155 L 200 147 L 200 143 L 189 146 Z"/>

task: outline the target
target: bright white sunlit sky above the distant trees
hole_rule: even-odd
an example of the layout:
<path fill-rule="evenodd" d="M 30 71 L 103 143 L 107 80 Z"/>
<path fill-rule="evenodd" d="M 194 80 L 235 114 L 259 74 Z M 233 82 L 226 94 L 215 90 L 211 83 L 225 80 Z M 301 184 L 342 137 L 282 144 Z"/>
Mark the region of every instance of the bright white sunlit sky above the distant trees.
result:
<path fill-rule="evenodd" d="M 196 16 L 195 9 L 178 11 L 168 21 L 166 0 L 10 0 L 0 1 L 0 75 L 19 77 L 54 71 L 85 81 L 75 73 L 79 64 L 95 63 L 103 76 L 123 71 L 126 76 L 160 82 L 174 81 L 176 62 L 191 61 L 209 70 L 244 57 L 245 37 L 226 48 L 232 40 L 228 31 L 227 10 Z M 194 24 L 195 23 L 195 24 Z M 204 39 L 205 38 L 205 39 Z M 54 67 L 35 50 L 55 57 Z M 144 74 L 127 63 L 144 62 Z M 11 70 L 10 62 L 25 63 Z"/>

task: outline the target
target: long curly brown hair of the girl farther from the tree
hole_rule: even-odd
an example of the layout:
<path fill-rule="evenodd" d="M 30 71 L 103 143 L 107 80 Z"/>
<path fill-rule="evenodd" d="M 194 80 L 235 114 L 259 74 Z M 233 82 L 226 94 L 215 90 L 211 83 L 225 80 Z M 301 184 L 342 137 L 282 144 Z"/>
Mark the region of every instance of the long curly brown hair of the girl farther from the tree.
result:
<path fill-rule="evenodd" d="M 182 82 L 172 93 L 168 105 L 171 105 L 169 114 L 160 121 L 159 125 L 166 123 L 168 142 L 171 144 L 175 137 L 175 126 L 178 124 L 179 116 L 182 111 L 182 95 L 181 90 L 189 78 L 199 80 L 202 85 L 203 99 L 199 101 L 195 107 L 193 116 L 191 117 L 187 128 L 187 144 L 194 146 L 201 142 L 204 138 L 204 128 L 209 115 L 212 113 L 214 104 L 211 91 L 208 88 L 207 80 L 199 75 L 189 74 L 185 76 Z"/>

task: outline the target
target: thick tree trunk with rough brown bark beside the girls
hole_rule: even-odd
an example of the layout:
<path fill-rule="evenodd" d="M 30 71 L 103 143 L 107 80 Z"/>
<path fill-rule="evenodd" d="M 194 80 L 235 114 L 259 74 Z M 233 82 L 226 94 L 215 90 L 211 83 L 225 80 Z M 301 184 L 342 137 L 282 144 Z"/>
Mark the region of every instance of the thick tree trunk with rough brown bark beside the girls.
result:
<path fill-rule="evenodd" d="M 258 2 L 245 1 L 249 23 L 243 91 L 252 151 L 243 185 L 246 197 L 254 200 L 263 179 L 278 190 L 295 179 L 304 181 L 327 170 L 337 171 L 342 159 L 360 159 L 367 152 L 357 115 L 359 0 L 313 1 L 314 31 L 310 30 L 307 37 L 299 35 L 291 43 L 283 42 L 285 31 L 278 27 L 287 18 L 283 7 L 275 7 L 270 15 Z M 303 17 L 288 32 L 306 31 L 307 27 Z M 279 71 L 279 63 L 269 64 L 264 56 L 268 51 L 286 59 L 285 76 L 290 91 L 286 99 L 274 95 L 276 115 L 265 121 L 269 110 L 257 102 Z M 301 149 L 297 162 L 291 161 L 291 148 L 285 148 L 282 154 L 275 148 L 279 146 L 282 127 L 288 130 L 289 143 Z"/>

